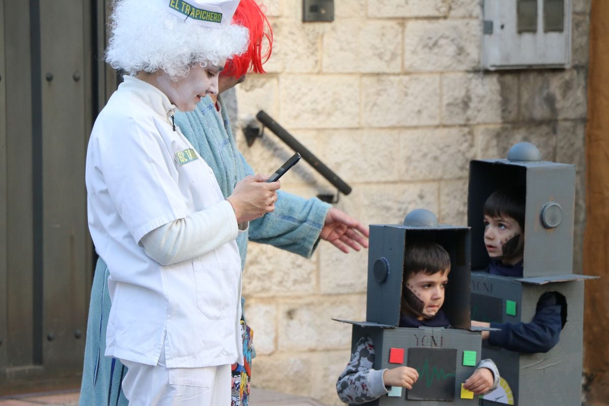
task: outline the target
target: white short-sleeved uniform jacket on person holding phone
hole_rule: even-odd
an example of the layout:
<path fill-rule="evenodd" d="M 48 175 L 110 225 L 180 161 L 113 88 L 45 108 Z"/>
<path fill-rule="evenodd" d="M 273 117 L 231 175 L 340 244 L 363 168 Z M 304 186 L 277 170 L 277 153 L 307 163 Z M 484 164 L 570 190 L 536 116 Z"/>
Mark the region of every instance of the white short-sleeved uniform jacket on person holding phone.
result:
<path fill-rule="evenodd" d="M 159 89 L 127 76 L 91 132 L 89 228 L 112 301 L 105 355 L 157 365 L 164 348 L 167 368 L 241 362 L 238 226 L 211 168 L 173 130 L 174 111 Z M 168 266 L 144 253 L 144 235 L 198 211 L 208 214 L 208 253 Z"/>

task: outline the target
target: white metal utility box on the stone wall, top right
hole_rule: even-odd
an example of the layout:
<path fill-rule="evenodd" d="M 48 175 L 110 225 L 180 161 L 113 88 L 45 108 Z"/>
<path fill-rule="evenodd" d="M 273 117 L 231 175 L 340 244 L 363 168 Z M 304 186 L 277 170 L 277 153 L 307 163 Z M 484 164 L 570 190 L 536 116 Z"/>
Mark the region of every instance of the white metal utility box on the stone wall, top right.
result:
<path fill-rule="evenodd" d="M 482 68 L 568 68 L 571 0 L 484 0 Z"/>

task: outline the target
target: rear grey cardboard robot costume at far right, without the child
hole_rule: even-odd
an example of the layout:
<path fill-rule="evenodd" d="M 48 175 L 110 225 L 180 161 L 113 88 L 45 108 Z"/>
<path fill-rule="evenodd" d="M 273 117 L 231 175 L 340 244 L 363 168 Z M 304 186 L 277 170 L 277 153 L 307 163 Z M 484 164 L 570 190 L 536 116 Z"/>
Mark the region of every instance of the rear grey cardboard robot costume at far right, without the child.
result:
<path fill-rule="evenodd" d="M 505 186 L 525 196 L 522 277 L 489 275 L 484 246 L 483 206 Z M 501 383 L 482 405 L 556 405 L 581 402 L 583 281 L 572 269 L 575 166 L 541 161 L 537 147 L 514 145 L 507 159 L 471 161 L 468 225 L 471 227 L 471 318 L 489 323 L 529 322 L 546 292 L 563 303 L 563 330 L 547 352 L 524 354 L 487 346 L 482 356 L 496 362 Z M 566 321 L 566 324 L 565 324 Z"/>

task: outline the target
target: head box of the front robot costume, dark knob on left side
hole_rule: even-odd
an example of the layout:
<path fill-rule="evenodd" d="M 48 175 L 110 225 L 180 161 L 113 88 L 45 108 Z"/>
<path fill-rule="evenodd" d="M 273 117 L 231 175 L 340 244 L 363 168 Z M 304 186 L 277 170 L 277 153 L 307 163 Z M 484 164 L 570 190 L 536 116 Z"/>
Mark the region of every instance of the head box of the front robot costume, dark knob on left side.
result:
<path fill-rule="evenodd" d="M 366 320 L 398 326 L 404 247 L 409 239 L 421 238 L 435 241 L 448 251 L 451 272 L 442 310 L 451 326 L 469 328 L 470 230 L 462 226 L 371 225 Z"/>

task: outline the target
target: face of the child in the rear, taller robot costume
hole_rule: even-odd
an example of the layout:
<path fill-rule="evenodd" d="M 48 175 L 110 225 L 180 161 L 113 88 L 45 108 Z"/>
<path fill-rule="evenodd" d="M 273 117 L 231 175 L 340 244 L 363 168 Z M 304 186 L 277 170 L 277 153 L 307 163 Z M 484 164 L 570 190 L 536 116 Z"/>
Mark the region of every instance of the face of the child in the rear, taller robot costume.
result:
<path fill-rule="evenodd" d="M 524 234 L 512 217 L 484 215 L 484 244 L 488 256 L 501 258 L 505 264 L 516 264 L 523 259 Z"/>

